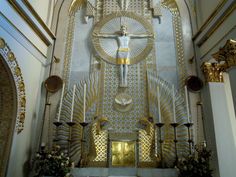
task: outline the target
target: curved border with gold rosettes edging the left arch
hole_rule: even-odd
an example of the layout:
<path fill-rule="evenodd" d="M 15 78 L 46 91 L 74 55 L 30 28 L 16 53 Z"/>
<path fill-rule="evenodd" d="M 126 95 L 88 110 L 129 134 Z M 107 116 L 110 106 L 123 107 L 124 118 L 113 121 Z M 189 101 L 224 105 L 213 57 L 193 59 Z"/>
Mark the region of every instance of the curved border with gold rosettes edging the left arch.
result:
<path fill-rule="evenodd" d="M 25 83 L 23 80 L 20 66 L 15 58 L 14 53 L 6 44 L 5 40 L 0 37 L 0 55 L 10 68 L 11 74 L 14 79 L 16 92 L 17 92 L 17 117 L 16 117 L 16 131 L 19 134 L 24 129 L 25 121 L 25 108 L 26 108 L 26 96 L 25 96 Z"/>

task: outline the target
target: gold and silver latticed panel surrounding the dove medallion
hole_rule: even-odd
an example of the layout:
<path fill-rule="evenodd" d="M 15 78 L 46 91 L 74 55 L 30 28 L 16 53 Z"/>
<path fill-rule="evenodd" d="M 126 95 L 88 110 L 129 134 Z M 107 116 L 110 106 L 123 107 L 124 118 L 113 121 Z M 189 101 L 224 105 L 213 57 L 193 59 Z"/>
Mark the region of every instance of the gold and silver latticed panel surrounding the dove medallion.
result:
<path fill-rule="evenodd" d="M 133 108 L 128 112 L 115 109 L 114 101 L 119 93 L 118 66 L 106 64 L 104 76 L 103 116 L 109 120 L 109 128 L 115 132 L 133 132 L 137 128 L 138 119 L 148 116 L 146 90 L 145 61 L 129 66 L 128 88 L 125 93 L 133 100 Z"/>

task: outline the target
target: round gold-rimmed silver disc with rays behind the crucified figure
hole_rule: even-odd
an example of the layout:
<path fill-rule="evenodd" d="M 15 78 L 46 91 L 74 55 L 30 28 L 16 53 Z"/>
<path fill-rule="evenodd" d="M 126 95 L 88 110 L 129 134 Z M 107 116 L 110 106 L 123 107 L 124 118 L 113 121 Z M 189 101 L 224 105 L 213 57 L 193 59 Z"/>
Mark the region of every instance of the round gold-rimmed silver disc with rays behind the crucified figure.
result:
<path fill-rule="evenodd" d="M 125 48 L 129 52 L 129 64 L 136 64 L 147 58 L 154 44 L 152 25 L 144 17 L 125 11 L 105 16 L 95 25 L 91 37 L 96 56 L 108 63 L 119 64 L 117 53 L 121 44 L 118 37 L 124 26 L 126 35 L 130 38 L 128 47 Z"/>

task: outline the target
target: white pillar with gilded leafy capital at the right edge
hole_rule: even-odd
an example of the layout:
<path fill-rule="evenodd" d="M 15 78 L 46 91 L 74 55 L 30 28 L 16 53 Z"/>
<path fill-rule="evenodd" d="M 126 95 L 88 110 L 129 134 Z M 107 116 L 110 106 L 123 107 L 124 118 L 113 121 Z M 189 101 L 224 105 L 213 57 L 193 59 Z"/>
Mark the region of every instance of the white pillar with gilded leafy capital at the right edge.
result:
<path fill-rule="evenodd" d="M 215 162 L 219 169 L 216 176 L 234 177 L 236 174 L 236 119 L 230 78 L 226 71 L 229 66 L 235 64 L 235 50 L 225 52 L 223 48 L 220 49 L 216 59 L 218 63 L 202 64 L 201 69 L 207 82 L 202 95 L 207 141 L 211 144 L 210 148 L 216 151 Z"/>

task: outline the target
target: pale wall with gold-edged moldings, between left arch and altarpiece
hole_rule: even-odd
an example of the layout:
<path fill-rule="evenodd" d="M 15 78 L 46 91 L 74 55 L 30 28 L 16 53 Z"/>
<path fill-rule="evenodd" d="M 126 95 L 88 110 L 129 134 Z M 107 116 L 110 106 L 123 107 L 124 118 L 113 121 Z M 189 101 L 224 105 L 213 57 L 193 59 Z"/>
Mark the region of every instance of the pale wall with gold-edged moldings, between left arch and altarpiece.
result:
<path fill-rule="evenodd" d="M 15 54 L 26 89 L 24 130 L 14 132 L 7 177 L 26 177 L 38 149 L 54 35 L 22 1 L 0 0 L 0 37 Z"/>

